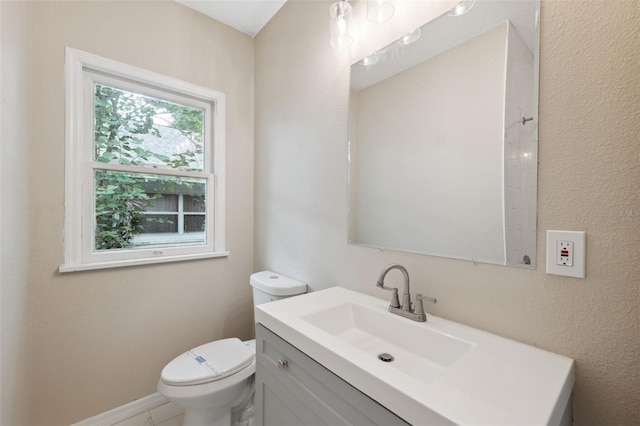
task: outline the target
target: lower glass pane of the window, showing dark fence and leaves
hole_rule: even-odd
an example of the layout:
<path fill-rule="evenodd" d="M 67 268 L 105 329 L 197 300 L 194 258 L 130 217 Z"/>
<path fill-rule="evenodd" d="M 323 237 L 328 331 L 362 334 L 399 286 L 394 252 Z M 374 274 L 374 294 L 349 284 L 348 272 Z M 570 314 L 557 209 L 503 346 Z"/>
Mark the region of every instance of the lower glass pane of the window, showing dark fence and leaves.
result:
<path fill-rule="evenodd" d="M 194 231 L 183 235 L 177 214 L 152 213 L 163 211 L 179 194 L 205 199 L 206 179 L 96 170 L 95 190 L 94 247 L 98 251 L 206 242 L 204 215 L 201 225 L 190 224 Z M 156 202 L 164 206 L 154 206 Z M 148 238 L 150 233 L 164 235 Z"/>

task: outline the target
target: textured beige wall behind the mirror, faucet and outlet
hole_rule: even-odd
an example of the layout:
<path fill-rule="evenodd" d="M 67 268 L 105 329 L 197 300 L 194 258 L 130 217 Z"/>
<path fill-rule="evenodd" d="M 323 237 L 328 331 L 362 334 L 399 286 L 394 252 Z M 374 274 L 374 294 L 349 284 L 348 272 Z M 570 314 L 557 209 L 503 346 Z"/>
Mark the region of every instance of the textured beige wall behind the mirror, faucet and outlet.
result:
<path fill-rule="evenodd" d="M 387 297 L 377 274 L 400 262 L 432 313 L 576 359 L 576 425 L 637 424 L 638 2 L 542 5 L 533 271 L 346 244 L 350 58 L 329 4 L 290 1 L 256 38 L 256 267 Z M 545 274 L 549 229 L 587 232 L 586 279 Z"/>

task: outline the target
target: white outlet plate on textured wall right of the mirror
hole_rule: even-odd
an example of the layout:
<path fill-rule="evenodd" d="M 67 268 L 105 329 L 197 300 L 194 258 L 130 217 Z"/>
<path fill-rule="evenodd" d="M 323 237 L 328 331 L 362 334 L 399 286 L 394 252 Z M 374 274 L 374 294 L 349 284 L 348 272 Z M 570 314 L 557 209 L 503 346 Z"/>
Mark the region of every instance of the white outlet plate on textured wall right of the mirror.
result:
<path fill-rule="evenodd" d="M 568 250 L 569 256 L 562 256 Z M 547 231 L 547 274 L 585 277 L 586 233 Z"/>

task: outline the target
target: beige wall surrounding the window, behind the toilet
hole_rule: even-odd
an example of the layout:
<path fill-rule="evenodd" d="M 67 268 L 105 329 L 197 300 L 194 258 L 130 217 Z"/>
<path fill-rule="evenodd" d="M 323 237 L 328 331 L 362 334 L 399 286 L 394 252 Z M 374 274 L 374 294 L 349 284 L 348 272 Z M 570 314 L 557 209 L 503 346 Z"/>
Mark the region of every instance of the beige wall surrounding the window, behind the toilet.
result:
<path fill-rule="evenodd" d="M 252 335 L 253 40 L 173 1 L 34 2 L 32 28 L 30 423 L 69 424 L 154 393 L 190 347 Z M 228 258 L 57 272 L 65 46 L 226 94 Z"/>

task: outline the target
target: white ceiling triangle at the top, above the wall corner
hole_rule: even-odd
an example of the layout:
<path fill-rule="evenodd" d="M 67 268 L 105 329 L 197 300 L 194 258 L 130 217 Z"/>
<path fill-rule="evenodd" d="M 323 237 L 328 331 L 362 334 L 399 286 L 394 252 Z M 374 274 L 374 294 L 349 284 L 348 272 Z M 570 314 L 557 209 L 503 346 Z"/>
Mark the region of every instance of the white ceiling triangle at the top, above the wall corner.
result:
<path fill-rule="evenodd" d="M 254 37 L 287 0 L 176 0 Z"/>

